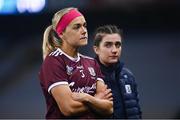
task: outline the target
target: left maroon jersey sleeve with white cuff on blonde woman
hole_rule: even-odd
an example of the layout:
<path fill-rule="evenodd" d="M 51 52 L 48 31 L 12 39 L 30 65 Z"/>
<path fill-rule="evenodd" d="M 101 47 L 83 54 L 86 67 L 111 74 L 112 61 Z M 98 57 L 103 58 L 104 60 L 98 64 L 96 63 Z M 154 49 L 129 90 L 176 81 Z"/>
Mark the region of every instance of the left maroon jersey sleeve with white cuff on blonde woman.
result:
<path fill-rule="evenodd" d="M 49 93 L 57 85 L 68 84 L 68 75 L 63 60 L 48 56 L 41 67 L 40 80 Z"/>

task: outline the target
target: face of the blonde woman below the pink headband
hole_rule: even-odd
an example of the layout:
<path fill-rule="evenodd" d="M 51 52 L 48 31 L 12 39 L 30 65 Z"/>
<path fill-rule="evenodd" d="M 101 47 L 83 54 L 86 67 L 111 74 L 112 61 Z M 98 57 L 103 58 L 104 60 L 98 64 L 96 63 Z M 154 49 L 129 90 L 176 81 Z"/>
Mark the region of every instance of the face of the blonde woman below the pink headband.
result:
<path fill-rule="evenodd" d="M 84 16 L 72 20 L 66 30 L 60 35 L 63 45 L 79 47 L 87 44 L 88 33 Z"/>

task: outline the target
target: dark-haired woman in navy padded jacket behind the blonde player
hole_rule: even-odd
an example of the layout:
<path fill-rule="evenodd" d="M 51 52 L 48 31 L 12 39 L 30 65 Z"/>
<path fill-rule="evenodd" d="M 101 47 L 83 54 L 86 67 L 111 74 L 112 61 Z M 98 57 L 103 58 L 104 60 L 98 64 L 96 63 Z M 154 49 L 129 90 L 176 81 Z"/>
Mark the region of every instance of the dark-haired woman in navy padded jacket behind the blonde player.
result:
<path fill-rule="evenodd" d="M 94 37 L 94 51 L 104 82 L 113 94 L 113 118 L 141 118 L 137 84 L 134 75 L 120 62 L 121 31 L 115 25 L 100 26 Z"/>

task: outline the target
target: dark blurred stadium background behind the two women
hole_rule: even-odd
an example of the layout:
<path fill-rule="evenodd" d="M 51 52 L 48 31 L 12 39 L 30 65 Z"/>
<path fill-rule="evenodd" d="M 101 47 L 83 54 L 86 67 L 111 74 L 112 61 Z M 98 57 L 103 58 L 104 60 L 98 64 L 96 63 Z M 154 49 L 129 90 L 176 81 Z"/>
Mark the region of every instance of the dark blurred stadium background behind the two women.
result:
<path fill-rule="evenodd" d="M 70 6 L 78 7 L 88 23 L 89 44 L 80 50 L 83 54 L 94 57 L 96 27 L 114 24 L 123 29 L 121 60 L 136 76 L 143 118 L 180 118 L 180 1 L 25 1 L 30 0 L 0 0 L 0 119 L 44 118 L 38 79 L 43 32 L 56 11 Z M 14 2 L 21 7 L 14 8 Z M 42 11 L 35 13 L 30 8 L 38 4 Z"/>

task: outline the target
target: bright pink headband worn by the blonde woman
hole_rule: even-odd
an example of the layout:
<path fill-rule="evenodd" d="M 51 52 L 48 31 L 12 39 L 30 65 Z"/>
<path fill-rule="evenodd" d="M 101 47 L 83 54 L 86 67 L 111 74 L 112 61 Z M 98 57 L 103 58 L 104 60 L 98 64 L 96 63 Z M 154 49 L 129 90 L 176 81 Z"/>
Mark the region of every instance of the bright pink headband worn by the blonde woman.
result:
<path fill-rule="evenodd" d="M 75 19 L 76 17 L 82 16 L 82 14 L 77 11 L 76 9 L 70 10 L 68 13 L 66 13 L 58 22 L 56 26 L 56 32 L 58 35 L 60 35 L 63 30 L 69 25 L 69 23 Z"/>

